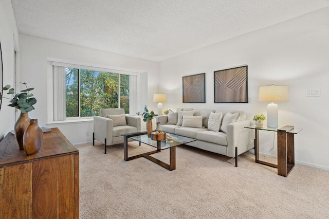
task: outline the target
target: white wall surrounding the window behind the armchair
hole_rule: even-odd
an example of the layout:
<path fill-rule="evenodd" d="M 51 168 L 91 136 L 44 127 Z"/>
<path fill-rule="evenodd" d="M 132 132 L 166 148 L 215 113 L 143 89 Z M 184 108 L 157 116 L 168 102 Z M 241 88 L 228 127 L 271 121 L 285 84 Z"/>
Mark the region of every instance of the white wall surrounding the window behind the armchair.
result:
<path fill-rule="evenodd" d="M 71 44 L 45 40 L 20 34 L 20 66 L 21 82 L 30 82 L 29 87 L 34 87 L 33 94 L 38 101 L 29 115 L 31 118 L 38 118 L 40 125 L 47 123 L 47 101 L 50 94 L 47 93 L 47 59 L 56 58 L 71 60 L 75 62 L 91 63 L 102 66 L 114 66 L 125 69 L 135 69 L 147 72 L 148 87 L 144 100 L 139 101 L 155 108 L 156 103 L 152 102 L 152 95 L 158 91 L 158 63 L 142 59 L 136 59 L 118 54 L 75 46 Z M 143 74 L 144 75 L 144 74 Z M 51 80 L 51 79 L 50 79 Z M 147 102 L 149 100 L 149 102 Z M 139 110 L 143 109 L 139 105 Z M 68 124 L 46 125 L 57 126 L 74 144 L 92 141 L 93 122 L 79 122 Z M 89 136 L 85 136 L 89 132 Z"/>

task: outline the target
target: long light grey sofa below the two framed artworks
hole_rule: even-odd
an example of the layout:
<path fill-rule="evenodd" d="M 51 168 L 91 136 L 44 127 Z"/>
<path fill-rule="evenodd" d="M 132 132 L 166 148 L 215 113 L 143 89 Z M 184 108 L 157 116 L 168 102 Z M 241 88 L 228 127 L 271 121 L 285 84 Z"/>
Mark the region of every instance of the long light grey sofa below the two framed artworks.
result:
<path fill-rule="evenodd" d="M 193 116 L 203 116 L 203 127 L 182 127 L 177 124 L 167 124 L 169 115 L 157 116 L 156 119 L 157 122 L 161 123 L 164 132 L 196 139 L 187 145 L 235 158 L 254 148 L 253 133 L 250 129 L 244 128 L 244 126 L 250 125 L 252 121 L 246 120 L 246 113 L 243 111 L 178 108 L 177 112 L 179 111 L 194 111 Z M 222 112 L 223 117 L 228 112 L 231 114 L 240 113 L 240 119 L 227 124 L 226 133 L 214 132 L 208 130 L 208 119 L 211 112 Z M 235 159 L 235 166 L 237 166 L 237 159 Z"/>

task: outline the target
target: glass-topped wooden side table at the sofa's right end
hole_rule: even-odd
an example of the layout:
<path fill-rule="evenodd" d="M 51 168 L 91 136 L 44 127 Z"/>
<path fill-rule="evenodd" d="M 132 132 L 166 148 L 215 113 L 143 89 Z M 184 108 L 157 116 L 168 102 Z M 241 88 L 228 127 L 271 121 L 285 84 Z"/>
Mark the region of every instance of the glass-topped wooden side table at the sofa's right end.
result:
<path fill-rule="evenodd" d="M 287 177 L 295 166 L 295 141 L 294 135 L 303 129 L 296 128 L 292 125 L 286 125 L 279 129 L 269 128 L 266 126 L 250 125 L 245 126 L 247 129 L 255 130 L 255 162 L 261 163 L 273 168 L 278 168 L 278 175 Z M 259 131 L 278 132 L 278 165 L 265 162 L 259 159 Z"/>

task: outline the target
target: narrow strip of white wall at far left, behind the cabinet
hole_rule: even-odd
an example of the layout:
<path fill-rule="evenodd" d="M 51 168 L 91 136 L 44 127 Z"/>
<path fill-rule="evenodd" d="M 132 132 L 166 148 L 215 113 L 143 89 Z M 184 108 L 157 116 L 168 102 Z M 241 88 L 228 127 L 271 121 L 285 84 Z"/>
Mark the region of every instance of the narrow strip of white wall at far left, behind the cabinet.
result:
<path fill-rule="evenodd" d="M 4 85 L 14 83 L 14 50 L 18 50 L 18 31 L 10 0 L 0 1 L 0 42 L 4 72 Z M 16 46 L 15 46 L 16 45 Z M 0 84 L 1 86 L 1 84 Z M 1 90 L 0 90 L 1 91 Z M 9 95 L 5 94 L 5 97 Z M 3 101 L 0 110 L 0 140 L 13 129 L 14 108 Z"/>

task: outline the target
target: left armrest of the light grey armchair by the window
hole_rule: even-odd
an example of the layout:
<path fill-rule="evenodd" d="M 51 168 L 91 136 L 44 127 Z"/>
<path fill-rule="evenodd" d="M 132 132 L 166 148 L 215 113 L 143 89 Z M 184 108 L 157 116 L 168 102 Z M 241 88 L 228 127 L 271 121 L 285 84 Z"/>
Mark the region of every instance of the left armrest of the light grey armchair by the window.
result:
<path fill-rule="evenodd" d="M 103 144 L 105 138 L 107 142 L 112 142 L 113 139 L 113 120 L 105 117 L 94 117 L 94 137 Z"/>

